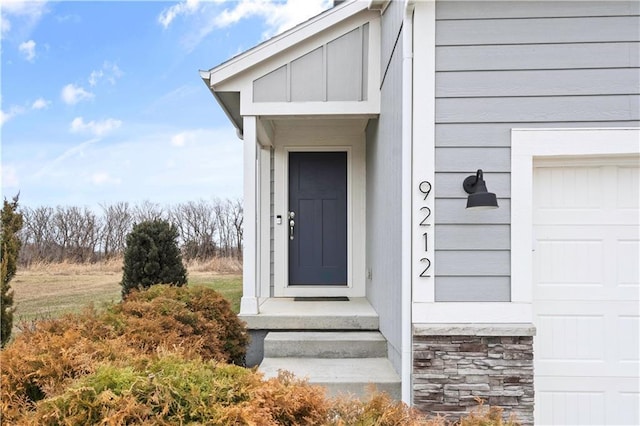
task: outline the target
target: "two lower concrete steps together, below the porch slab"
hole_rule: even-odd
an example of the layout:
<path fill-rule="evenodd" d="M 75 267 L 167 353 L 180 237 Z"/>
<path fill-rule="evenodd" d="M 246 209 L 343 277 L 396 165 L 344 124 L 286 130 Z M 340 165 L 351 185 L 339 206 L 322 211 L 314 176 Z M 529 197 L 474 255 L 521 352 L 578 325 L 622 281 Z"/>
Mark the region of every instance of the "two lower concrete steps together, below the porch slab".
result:
<path fill-rule="evenodd" d="M 400 377 L 386 356 L 387 342 L 378 331 L 270 332 L 259 369 L 265 377 L 290 371 L 332 396 L 366 397 L 374 385 L 400 399 Z"/>

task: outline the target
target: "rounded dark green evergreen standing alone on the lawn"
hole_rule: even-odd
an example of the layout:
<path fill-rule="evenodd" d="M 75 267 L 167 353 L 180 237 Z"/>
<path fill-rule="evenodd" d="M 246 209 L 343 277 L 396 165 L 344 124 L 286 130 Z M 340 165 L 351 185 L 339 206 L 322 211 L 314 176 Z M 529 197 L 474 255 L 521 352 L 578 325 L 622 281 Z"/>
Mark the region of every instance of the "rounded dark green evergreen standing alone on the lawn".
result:
<path fill-rule="evenodd" d="M 133 289 L 187 283 L 187 269 L 177 240 L 176 227 L 164 220 L 145 221 L 133 227 L 124 251 L 123 298 Z"/>

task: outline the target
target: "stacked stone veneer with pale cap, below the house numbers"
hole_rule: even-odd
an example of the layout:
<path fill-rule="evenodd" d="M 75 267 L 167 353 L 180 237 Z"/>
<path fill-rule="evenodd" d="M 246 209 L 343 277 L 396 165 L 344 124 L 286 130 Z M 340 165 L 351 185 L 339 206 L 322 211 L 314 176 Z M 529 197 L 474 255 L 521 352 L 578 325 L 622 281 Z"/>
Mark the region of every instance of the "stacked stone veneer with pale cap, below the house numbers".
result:
<path fill-rule="evenodd" d="M 457 420 L 476 397 L 533 424 L 531 325 L 416 325 L 413 333 L 413 405 Z"/>

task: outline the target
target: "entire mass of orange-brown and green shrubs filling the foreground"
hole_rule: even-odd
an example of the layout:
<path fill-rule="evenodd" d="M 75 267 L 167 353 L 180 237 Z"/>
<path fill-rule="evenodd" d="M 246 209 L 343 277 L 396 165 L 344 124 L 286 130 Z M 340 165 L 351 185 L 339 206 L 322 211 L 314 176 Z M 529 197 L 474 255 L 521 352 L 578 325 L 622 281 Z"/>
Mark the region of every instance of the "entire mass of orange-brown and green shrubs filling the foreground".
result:
<path fill-rule="evenodd" d="M 247 333 L 215 291 L 154 286 L 99 313 L 36 323 L 0 352 L 2 424 L 446 426 L 386 394 L 328 399 L 282 372 L 226 364 Z M 484 407 L 462 426 L 515 426 Z"/>

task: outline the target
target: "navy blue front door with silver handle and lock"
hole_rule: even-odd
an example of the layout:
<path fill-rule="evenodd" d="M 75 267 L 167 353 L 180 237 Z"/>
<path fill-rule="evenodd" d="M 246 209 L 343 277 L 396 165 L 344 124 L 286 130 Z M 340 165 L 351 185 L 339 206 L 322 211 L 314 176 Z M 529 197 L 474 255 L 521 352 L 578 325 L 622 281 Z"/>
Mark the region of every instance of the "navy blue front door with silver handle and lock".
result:
<path fill-rule="evenodd" d="M 346 285 L 346 152 L 289 153 L 289 212 L 289 284 Z"/>

